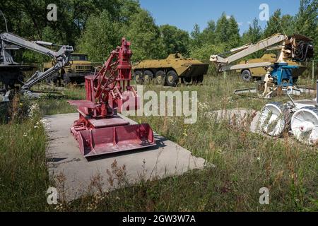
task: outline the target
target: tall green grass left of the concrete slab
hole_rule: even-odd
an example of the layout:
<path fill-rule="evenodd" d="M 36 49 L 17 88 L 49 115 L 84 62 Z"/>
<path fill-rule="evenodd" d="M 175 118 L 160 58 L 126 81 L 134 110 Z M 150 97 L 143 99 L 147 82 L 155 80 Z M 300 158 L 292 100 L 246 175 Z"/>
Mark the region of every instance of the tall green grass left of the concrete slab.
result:
<path fill-rule="evenodd" d="M 17 104 L 9 122 L 0 124 L 0 210 L 46 210 L 49 177 L 45 165 L 45 129 L 36 109 L 26 112 L 32 116 L 23 119 L 19 111 L 26 104 Z"/>

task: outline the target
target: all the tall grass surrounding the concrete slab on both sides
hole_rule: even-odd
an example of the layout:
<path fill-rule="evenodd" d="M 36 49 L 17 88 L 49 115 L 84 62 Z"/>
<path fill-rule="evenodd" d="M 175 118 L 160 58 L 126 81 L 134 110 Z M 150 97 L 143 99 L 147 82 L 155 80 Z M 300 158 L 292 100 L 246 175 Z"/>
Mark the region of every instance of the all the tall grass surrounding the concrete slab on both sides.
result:
<path fill-rule="evenodd" d="M 314 85 L 312 81 L 308 83 Z M 88 195 L 54 210 L 85 211 L 317 211 L 318 154 L 285 136 L 274 139 L 249 132 L 246 117 L 237 124 L 233 119 L 216 119 L 206 114 L 216 109 L 247 108 L 260 110 L 268 100 L 237 97 L 232 91 L 254 87 L 240 78 L 207 76 L 201 86 L 163 88 L 145 85 L 146 90 L 194 90 L 198 92 L 199 114 L 196 124 L 184 124 L 183 117 L 132 117 L 151 124 L 154 131 L 204 157 L 208 167 L 179 177 L 147 178 L 124 189 Z M 85 97 L 83 88 L 69 87 L 64 96 L 47 95 L 35 102 L 40 112 L 19 117 L 0 125 L 0 210 L 52 210 L 47 205 L 51 185 L 46 168 L 45 128 L 39 123 L 45 114 L 76 112 L 66 100 Z M 310 96 L 308 96 L 310 97 Z M 305 97 L 296 97 L 302 99 Z M 276 97 L 285 102 L 287 97 Z M 35 102 L 30 103 L 33 105 Z M 26 106 L 17 103 L 18 112 Z M 12 114 L 12 112 L 11 112 Z M 124 167 L 113 165 L 110 175 L 126 182 Z M 127 172 L 129 173 L 129 172 Z M 105 172 L 107 174 L 107 172 Z M 92 186 L 100 188 L 96 175 Z M 259 189 L 269 188 L 270 204 L 259 204 Z"/>

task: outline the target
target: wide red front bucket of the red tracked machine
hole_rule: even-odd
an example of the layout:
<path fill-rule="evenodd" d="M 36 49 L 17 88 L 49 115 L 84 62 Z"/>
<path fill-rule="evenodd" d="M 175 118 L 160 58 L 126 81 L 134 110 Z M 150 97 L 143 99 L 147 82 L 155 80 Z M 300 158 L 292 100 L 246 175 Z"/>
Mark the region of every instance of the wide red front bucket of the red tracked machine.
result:
<path fill-rule="evenodd" d="M 85 157 L 136 150 L 155 145 L 148 124 L 112 126 L 78 131 L 77 140 Z"/>

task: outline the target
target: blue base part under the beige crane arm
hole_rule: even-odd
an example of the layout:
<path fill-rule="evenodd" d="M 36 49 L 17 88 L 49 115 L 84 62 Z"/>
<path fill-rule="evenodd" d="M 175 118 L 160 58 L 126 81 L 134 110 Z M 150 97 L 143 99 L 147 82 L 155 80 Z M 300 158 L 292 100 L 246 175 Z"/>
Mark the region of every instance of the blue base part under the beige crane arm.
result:
<path fill-rule="evenodd" d="M 293 86 L 293 69 L 298 69 L 297 65 L 288 65 L 287 63 L 276 63 L 271 66 L 271 77 L 278 86 Z"/>

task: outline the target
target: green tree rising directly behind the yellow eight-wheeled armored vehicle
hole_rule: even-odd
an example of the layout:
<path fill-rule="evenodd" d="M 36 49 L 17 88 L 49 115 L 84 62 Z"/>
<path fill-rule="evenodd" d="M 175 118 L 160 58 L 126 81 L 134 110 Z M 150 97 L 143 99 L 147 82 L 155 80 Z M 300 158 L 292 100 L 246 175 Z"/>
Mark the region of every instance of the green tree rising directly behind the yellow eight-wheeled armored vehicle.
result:
<path fill-rule="evenodd" d="M 161 25 L 160 34 L 163 39 L 165 54 L 179 52 L 189 54 L 189 33 L 172 25 Z"/>

